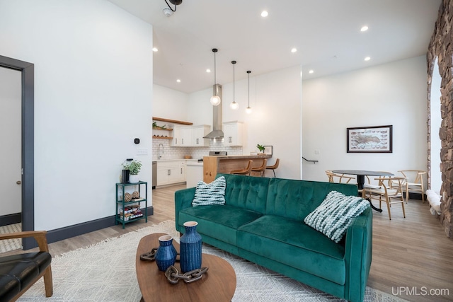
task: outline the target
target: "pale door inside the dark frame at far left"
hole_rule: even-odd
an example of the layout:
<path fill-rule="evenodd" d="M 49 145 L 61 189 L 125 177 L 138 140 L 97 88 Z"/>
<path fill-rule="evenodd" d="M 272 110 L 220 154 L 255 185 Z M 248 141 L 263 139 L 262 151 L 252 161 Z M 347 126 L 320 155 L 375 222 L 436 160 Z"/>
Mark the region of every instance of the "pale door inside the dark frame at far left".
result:
<path fill-rule="evenodd" d="M 0 218 L 22 211 L 21 193 L 21 71 L 0 67 Z M 8 221 L 8 219 L 0 219 Z"/>

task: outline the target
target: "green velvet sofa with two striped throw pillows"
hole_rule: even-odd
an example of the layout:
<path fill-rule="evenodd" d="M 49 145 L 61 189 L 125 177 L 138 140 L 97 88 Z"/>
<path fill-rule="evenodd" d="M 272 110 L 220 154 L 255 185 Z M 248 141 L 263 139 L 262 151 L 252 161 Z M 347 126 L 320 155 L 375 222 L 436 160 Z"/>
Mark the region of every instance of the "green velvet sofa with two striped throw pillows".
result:
<path fill-rule="evenodd" d="M 219 174 L 225 204 L 192 207 L 195 187 L 175 193 L 176 229 L 197 221 L 202 242 L 349 301 L 362 301 L 372 260 L 372 211 L 357 216 L 339 243 L 304 223 L 333 190 L 357 196 L 357 186 L 333 182 Z"/>

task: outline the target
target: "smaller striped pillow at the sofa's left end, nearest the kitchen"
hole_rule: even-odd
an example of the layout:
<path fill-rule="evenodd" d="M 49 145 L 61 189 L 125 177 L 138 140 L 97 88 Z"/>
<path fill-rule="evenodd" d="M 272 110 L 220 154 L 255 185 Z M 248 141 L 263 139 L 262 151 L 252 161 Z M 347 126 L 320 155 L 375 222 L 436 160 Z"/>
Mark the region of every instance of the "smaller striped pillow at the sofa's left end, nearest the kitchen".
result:
<path fill-rule="evenodd" d="M 211 183 L 200 180 L 195 187 L 195 197 L 192 201 L 192 207 L 210 206 L 213 204 L 225 204 L 225 187 L 226 181 L 224 176 L 220 176 Z"/>

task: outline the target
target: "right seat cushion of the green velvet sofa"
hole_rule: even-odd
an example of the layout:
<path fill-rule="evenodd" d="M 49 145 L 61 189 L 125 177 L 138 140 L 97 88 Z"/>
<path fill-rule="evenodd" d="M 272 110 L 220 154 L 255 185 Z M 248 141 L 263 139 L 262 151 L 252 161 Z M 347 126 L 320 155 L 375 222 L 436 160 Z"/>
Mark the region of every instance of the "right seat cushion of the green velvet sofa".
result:
<path fill-rule="evenodd" d="M 344 246 L 306 226 L 303 221 L 261 216 L 239 228 L 238 246 L 336 284 L 345 284 Z"/>

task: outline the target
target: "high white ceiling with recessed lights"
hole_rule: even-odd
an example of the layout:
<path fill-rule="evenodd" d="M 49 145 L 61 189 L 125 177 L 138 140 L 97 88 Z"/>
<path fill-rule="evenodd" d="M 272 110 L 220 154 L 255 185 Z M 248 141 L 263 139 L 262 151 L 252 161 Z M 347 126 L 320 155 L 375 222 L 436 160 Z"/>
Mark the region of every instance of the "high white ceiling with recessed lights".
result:
<path fill-rule="evenodd" d="M 183 0 L 166 17 L 165 0 L 109 1 L 153 25 L 154 83 L 184 93 L 214 84 L 212 48 L 220 84 L 233 81 L 232 60 L 236 81 L 247 70 L 256 76 L 297 64 L 305 80 L 426 54 L 441 2 Z M 369 30 L 361 33 L 362 25 Z"/>

